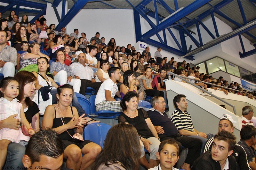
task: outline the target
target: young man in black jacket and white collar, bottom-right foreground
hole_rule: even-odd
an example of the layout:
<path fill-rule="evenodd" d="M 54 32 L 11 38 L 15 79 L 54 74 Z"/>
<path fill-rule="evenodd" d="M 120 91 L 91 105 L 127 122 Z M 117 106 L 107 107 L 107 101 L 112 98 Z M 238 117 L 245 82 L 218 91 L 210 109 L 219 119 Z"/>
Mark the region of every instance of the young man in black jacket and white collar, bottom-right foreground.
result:
<path fill-rule="evenodd" d="M 236 137 L 228 131 L 221 131 L 214 136 L 212 149 L 202 154 L 191 170 L 237 170 L 236 159 L 232 156 Z"/>

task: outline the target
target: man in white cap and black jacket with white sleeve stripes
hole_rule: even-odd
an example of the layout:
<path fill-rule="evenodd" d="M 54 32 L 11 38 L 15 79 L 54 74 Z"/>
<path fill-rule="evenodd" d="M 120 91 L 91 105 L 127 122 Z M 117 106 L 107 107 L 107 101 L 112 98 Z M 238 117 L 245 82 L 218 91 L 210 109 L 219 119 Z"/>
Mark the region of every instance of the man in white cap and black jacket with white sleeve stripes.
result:
<path fill-rule="evenodd" d="M 224 114 L 220 117 L 220 122 L 219 122 L 219 130 L 218 133 L 226 130 L 229 133 L 234 132 L 234 125 L 233 123 L 236 123 L 236 121 L 233 120 L 233 118 L 228 115 L 228 114 Z M 208 151 L 210 148 L 212 148 L 212 142 L 214 140 L 214 137 L 210 138 L 204 146 L 204 152 Z M 237 169 L 238 170 L 250 170 L 250 166 L 248 164 L 247 161 L 247 157 L 246 157 L 246 152 L 244 151 L 243 147 L 236 144 L 234 147 L 234 152 L 232 153 L 232 155 L 236 158 L 236 162 L 237 162 Z"/>

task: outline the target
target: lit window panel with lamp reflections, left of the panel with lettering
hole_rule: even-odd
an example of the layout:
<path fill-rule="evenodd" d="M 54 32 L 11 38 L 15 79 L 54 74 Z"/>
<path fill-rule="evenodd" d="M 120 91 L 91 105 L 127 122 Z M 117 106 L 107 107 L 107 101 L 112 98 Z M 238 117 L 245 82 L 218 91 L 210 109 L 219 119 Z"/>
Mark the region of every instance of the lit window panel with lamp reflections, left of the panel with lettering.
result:
<path fill-rule="evenodd" d="M 209 74 L 219 70 L 226 72 L 226 69 L 224 66 L 224 60 L 219 57 L 215 57 L 215 58 L 212 58 L 211 60 L 206 61 L 206 64 L 207 64 Z"/>

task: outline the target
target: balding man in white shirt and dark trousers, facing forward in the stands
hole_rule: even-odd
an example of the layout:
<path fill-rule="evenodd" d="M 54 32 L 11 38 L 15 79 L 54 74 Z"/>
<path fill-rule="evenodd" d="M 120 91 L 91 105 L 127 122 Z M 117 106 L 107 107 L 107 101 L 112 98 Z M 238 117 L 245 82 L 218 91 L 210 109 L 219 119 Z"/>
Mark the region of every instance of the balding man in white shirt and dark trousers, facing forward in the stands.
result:
<path fill-rule="evenodd" d="M 85 95 L 85 91 L 87 87 L 92 87 L 97 94 L 100 85 L 102 82 L 96 82 L 93 77 L 93 70 L 88 64 L 85 63 L 86 55 L 84 53 L 80 53 L 78 55 L 77 63 L 73 63 L 70 65 L 71 70 L 74 72 L 75 78 L 81 80 L 80 94 Z"/>

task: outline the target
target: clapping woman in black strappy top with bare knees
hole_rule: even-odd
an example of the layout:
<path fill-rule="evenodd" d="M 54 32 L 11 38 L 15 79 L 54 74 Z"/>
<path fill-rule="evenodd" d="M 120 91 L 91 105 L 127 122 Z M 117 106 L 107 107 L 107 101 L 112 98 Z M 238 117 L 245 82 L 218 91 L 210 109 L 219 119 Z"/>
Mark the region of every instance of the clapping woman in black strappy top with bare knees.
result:
<path fill-rule="evenodd" d="M 65 148 L 64 158 L 67 159 L 67 168 L 86 169 L 94 162 L 101 148 L 92 141 L 77 141 L 71 137 L 75 132 L 82 135 L 82 127 L 86 122 L 85 118 L 82 118 L 84 114 L 79 117 L 76 107 L 69 106 L 73 99 L 72 86 L 67 84 L 59 86 L 56 97 L 57 104 L 49 105 L 45 109 L 43 129 L 52 128 L 59 134 Z"/>

